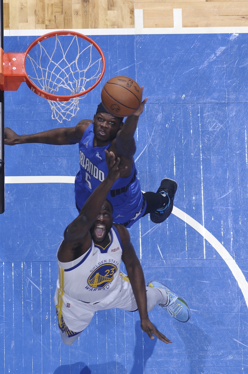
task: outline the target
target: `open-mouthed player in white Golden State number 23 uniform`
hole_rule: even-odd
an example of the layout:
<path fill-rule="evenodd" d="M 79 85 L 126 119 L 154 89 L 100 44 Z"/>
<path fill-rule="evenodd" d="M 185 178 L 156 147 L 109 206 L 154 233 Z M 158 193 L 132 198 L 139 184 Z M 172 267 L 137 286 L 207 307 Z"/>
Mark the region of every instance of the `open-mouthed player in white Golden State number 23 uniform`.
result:
<path fill-rule="evenodd" d="M 66 227 L 57 257 L 59 279 L 55 305 L 62 340 L 71 345 L 89 325 L 97 310 L 139 310 L 141 328 L 151 339 L 156 335 L 172 343 L 149 320 L 156 304 L 178 321 L 187 322 L 186 301 L 162 283 L 145 286 L 143 270 L 130 241 L 128 230 L 113 225 L 112 205 L 106 196 L 123 168 L 120 159 L 106 152 L 108 175 L 93 191 L 80 215 Z M 121 260 L 127 275 L 120 272 Z"/>

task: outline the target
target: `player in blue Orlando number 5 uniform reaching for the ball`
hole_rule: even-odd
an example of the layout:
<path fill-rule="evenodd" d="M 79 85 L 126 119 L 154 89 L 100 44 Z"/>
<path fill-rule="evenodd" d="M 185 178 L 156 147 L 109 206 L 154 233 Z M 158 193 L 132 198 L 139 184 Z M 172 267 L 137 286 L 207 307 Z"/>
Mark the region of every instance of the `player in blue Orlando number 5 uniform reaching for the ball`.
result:
<path fill-rule="evenodd" d="M 137 111 L 127 117 L 114 117 L 102 103 L 97 107 L 93 121 L 81 120 L 77 126 L 58 128 L 31 135 L 17 135 L 10 128 L 5 128 L 5 144 L 23 143 L 76 144 L 79 143 L 80 171 L 75 178 L 75 200 L 78 211 L 90 194 L 108 174 L 105 149 L 120 157 L 120 178 L 108 193 L 113 206 L 116 223 L 131 227 L 134 222 L 150 213 L 154 223 L 161 223 L 171 214 L 177 183 L 164 178 L 156 193 L 142 193 L 133 156 L 136 152 L 134 134 L 140 114 L 148 98 L 140 104 Z"/>

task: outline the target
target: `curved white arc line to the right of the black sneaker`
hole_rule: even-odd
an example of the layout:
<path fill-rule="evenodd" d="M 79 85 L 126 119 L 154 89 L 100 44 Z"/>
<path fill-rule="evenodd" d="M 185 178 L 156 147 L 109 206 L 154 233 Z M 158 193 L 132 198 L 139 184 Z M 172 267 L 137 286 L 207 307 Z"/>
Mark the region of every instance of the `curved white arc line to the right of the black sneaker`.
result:
<path fill-rule="evenodd" d="M 185 212 L 181 211 L 176 206 L 173 207 L 172 213 L 176 215 L 176 217 L 180 218 L 184 222 L 186 222 L 189 226 L 193 227 L 199 234 L 201 234 L 204 239 L 210 243 L 214 249 L 218 252 L 218 254 L 223 258 L 231 272 L 233 273 L 234 278 L 238 282 L 238 285 L 244 295 L 245 302 L 248 307 L 248 283 L 245 279 L 244 274 L 242 273 L 241 269 L 239 269 L 238 265 L 236 264 L 235 260 L 232 258 L 229 252 L 227 252 L 226 248 L 214 237 L 205 227 L 203 227 L 199 222 L 194 220 L 194 218 L 190 217 L 190 215 L 186 214 Z"/>

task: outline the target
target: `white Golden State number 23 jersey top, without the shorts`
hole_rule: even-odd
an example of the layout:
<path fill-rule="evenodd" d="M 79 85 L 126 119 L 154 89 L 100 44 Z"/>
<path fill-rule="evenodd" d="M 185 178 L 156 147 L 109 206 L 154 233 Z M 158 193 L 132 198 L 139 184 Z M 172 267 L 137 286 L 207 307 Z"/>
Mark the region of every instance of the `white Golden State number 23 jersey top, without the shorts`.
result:
<path fill-rule="evenodd" d="M 59 263 L 58 294 L 68 295 L 84 303 L 103 300 L 120 282 L 122 242 L 117 229 L 109 232 L 111 242 L 106 248 L 93 243 L 74 261 Z"/>

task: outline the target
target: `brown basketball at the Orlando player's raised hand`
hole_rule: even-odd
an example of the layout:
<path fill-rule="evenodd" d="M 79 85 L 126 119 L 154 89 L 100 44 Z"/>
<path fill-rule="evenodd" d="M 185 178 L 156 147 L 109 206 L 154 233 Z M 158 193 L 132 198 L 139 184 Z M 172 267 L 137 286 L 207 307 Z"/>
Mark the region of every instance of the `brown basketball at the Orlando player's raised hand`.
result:
<path fill-rule="evenodd" d="M 110 114 L 115 117 L 128 117 L 139 108 L 142 92 L 135 80 L 118 76 L 105 83 L 101 99 L 102 105 Z"/>

